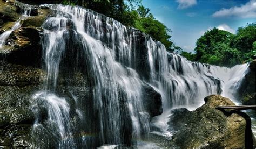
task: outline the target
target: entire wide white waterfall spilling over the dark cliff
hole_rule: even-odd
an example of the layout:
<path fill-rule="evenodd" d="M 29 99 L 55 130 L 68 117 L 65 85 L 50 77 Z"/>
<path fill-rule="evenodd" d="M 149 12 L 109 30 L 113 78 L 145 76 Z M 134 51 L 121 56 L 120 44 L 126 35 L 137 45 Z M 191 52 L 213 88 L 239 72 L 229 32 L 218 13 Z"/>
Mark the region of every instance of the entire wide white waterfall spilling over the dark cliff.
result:
<path fill-rule="evenodd" d="M 166 52 L 163 44 L 144 33 L 91 10 L 43 6 L 55 15 L 42 24 L 46 79 L 33 95 L 33 135 L 39 147 L 138 146 L 150 133 L 150 123 L 171 135 L 166 132 L 166 117 L 172 108 L 195 109 L 211 94 L 237 100 L 247 65 L 227 68 L 191 62 Z M 85 83 L 70 83 L 78 76 Z M 90 95 L 80 97 L 73 89 L 78 85 Z M 161 95 L 161 116 L 150 117 L 145 87 Z M 44 133 L 51 138 L 41 139 Z"/>

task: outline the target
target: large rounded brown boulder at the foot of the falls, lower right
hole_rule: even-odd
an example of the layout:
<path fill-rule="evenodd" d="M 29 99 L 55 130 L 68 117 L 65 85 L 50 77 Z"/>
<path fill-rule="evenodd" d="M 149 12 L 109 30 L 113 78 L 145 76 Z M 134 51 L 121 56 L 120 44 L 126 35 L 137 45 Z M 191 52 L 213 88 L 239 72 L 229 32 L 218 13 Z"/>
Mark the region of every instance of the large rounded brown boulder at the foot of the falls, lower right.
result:
<path fill-rule="evenodd" d="M 194 111 L 174 109 L 168 123 L 172 138 L 152 138 L 163 147 L 252 148 L 254 137 L 250 117 L 242 112 L 217 110 L 218 105 L 235 104 L 228 98 L 211 95 Z"/>

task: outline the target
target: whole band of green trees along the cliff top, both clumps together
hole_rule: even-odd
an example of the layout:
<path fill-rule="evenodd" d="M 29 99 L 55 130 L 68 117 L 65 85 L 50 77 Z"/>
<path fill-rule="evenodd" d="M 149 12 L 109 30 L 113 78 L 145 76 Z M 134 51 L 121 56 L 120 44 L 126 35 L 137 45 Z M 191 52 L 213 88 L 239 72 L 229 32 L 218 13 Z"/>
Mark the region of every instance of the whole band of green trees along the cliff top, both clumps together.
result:
<path fill-rule="evenodd" d="M 236 34 L 216 27 L 206 31 L 196 42 L 193 53 L 183 51 L 173 44 L 171 29 L 156 20 L 145 8 L 142 0 L 63 0 L 63 4 L 82 5 L 103 13 L 127 26 L 132 26 L 162 42 L 167 51 L 179 52 L 191 61 L 219 66 L 234 66 L 253 60 L 256 53 L 256 23 L 239 27 Z"/>

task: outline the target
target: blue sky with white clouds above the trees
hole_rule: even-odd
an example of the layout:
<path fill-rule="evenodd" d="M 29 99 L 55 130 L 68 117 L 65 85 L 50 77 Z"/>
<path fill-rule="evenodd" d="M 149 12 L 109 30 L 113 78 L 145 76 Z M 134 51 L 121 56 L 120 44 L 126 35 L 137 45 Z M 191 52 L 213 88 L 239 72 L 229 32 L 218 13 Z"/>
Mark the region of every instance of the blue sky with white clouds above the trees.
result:
<path fill-rule="evenodd" d="M 172 30 L 174 43 L 192 52 L 197 39 L 212 27 L 235 33 L 256 22 L 256 0 L 142 0 L 153 16 Z"/>

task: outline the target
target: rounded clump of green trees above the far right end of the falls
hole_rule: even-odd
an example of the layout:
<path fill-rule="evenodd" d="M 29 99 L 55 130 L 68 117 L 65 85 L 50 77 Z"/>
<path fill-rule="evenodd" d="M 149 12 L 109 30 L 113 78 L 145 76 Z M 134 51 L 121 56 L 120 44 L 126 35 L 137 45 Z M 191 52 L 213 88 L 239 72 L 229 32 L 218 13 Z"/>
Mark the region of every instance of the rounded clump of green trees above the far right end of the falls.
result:
<path fill-rule="evenodd" d="M 256 54 L 256 23 L 239 27 L 237 34 L 217 28 L 206 31 L 196 42 L 196 54 L 181 52 L 188 60 L 234 66 L 253 60 Z"/>

